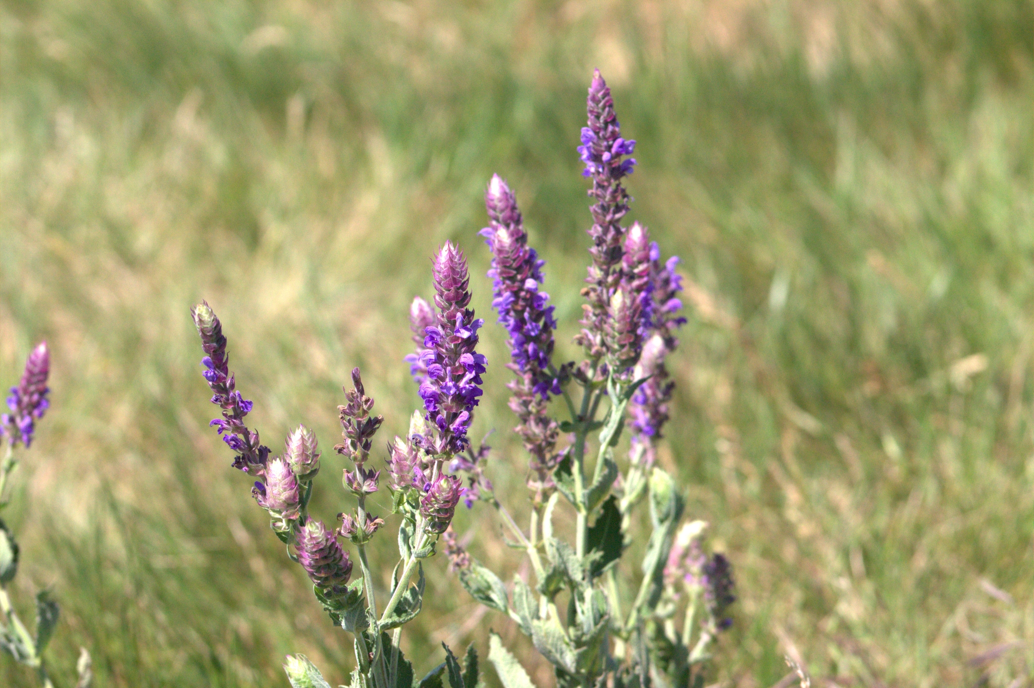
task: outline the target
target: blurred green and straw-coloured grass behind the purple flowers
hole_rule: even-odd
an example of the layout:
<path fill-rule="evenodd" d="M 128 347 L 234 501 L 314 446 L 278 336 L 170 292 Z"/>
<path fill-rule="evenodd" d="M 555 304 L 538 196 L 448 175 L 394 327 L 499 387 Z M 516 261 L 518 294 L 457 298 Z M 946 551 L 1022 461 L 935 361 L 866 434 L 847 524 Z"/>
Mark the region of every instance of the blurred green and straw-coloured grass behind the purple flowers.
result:
<path fill-rule="evenodd" d="M 354 365 L 387 439 L 416 403 L 408 300 L 445 239 L 484 273 L 498 171 L 574 355 L 594 66 L 639 142 L 633 215 L 690 284 L 664 461 L 736 565 L 714 680 L 772 685 L 789 653 L 819 685 L 1031 685 L 1030 2 L 4 0 L 0 65 L 0 369 L 55 355 L 19 593 L 63 603 L 65 685 L 78 645 L 102 686 L 283 686 L 299 651 L 344 681 L 346 636 L 206 427 L 188 309 L 222 317 L 274 448 L 300 420 L 336 441 Z M 512 424 L 487 332 L 476 432 Z M 496 532 L 478 554 L 513 565 Z M 432 569 L 418 668 L 494 625 L 549 685 Z"/>

